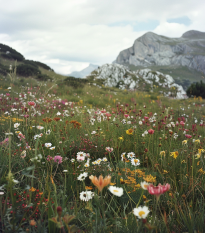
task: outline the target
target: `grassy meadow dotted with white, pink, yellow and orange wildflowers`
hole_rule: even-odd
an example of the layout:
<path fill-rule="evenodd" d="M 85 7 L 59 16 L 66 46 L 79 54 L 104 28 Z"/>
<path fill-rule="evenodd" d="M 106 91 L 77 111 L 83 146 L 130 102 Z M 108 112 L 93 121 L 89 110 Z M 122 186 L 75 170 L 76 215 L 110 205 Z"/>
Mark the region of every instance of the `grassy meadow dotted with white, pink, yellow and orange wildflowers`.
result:
<path fill-rule="evenodd" d="M 204 100 L 0 88 L 1 232 L 204 232 Z"/>

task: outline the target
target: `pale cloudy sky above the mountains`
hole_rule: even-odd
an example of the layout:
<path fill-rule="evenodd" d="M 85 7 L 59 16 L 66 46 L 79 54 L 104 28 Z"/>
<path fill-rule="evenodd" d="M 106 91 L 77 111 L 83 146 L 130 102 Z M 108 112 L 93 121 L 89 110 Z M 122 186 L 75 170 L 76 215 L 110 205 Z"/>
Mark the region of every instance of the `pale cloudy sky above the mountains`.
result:
<path fill-rule="evenodd" d="M 205 32 L 204 0 L 0 0 L 0 43 L 69 74 L 103 65 L 148 31 Z"/>

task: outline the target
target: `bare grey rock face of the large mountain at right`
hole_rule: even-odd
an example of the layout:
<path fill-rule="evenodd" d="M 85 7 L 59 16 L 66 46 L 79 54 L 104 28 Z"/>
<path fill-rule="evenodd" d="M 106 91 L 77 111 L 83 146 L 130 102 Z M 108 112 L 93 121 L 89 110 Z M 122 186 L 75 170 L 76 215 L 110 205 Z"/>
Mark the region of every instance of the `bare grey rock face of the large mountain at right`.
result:
<path fill-rule="evenodd" d="M 205 74 L 205 32 L 188 31 L 180 38 L 148 32 L 121 51 L 115 61 L 135 66 L 181 65 Z"/>

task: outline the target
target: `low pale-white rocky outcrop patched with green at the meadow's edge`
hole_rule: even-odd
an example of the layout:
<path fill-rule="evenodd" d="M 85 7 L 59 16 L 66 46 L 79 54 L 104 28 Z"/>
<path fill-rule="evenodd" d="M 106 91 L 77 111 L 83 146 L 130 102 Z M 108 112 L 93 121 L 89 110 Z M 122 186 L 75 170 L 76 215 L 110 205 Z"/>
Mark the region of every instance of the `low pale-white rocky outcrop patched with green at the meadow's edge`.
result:
<path fill-rule="evenodd" d="M 117 87 L 122 90 L 137 89 L 177 98 L 186 96 L 183 87 L 176 84 L 170 75 L 150 69 L 130 71 L 123 65 L 105 64 L 94 70 L 87 76 L 87 79 L 96 83 L 101 80 L 104 86 Z"/>

